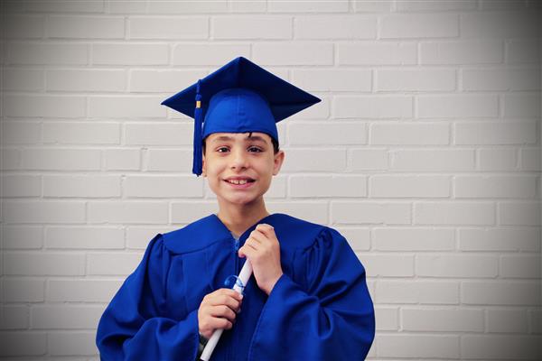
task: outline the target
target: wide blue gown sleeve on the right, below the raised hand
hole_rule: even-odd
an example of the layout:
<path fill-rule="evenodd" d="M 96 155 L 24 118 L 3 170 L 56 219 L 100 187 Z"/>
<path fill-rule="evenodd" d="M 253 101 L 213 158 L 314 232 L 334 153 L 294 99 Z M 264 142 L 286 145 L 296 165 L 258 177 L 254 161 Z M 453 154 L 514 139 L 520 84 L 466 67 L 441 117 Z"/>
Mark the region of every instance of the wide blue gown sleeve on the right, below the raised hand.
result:
<path fill-rule="evenodd" d="M 295 254 L 294 267 L 300 265 L 304 281 L 283 274 L 269 294 L 248 359 L 365 359 L 375 335 L 374 308 L 365 269 L 346 239 L 323 228 L 313 245 Z"/>

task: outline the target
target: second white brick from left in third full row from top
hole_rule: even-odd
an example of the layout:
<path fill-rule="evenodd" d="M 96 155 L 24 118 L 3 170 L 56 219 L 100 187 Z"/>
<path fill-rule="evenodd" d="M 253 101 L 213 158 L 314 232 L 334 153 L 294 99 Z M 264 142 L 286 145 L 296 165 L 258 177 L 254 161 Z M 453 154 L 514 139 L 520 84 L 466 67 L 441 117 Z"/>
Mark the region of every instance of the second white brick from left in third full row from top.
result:
<path fill-rule="evenodd" d="M 123 69 L 51 69 L 45 72 L 47 90 L 125 91 Z"/>

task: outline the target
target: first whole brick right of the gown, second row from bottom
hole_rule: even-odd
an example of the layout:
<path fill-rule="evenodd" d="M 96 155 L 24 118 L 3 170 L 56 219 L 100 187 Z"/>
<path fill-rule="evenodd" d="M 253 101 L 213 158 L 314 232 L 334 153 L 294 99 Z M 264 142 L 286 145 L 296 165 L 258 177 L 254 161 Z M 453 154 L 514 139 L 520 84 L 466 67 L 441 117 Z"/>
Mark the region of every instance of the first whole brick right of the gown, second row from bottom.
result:
<path fill-rule="evenodd" d="M 402 329 L 431 332 L 482 332 L 483 310 L 401 309 Z"/>

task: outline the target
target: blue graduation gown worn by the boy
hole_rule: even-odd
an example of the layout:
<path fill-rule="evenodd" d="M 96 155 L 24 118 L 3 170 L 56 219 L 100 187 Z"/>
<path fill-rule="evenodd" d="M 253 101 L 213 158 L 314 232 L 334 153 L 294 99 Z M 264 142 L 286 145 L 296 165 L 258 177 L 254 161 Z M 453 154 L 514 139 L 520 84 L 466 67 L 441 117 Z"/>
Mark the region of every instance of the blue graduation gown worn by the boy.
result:
<path fill-rule="evenodd" d="M 251 277 L 236 322 L 211 360 L 363 360 L 375 333 L 365 270 L 341 234 L 275 213 L 284 274 L 269 296 Z M 196 358 L 198 308 L 244 264 L 236 241 L 216 215 L 154 236 L 141 263 L 99 320 L 103 360 Z"/>

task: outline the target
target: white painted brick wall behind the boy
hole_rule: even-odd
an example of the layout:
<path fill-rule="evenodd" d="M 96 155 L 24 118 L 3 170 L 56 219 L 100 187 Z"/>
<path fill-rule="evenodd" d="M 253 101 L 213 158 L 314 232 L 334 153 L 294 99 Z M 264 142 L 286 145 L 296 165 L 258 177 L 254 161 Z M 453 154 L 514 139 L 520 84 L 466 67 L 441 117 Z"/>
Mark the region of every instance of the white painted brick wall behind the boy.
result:
<path fill-rule="evenodd" d="M 237 56 L 322 97 L 267 205 L 348 238 L 370 359 L 540 358 L 538 3 L 2 2 L 0 358 L 98 360 L 148 241 L 217 210 L 160 102 Z"/>

